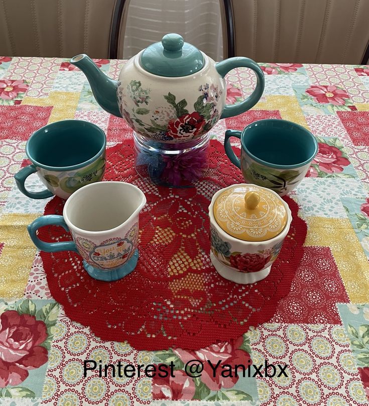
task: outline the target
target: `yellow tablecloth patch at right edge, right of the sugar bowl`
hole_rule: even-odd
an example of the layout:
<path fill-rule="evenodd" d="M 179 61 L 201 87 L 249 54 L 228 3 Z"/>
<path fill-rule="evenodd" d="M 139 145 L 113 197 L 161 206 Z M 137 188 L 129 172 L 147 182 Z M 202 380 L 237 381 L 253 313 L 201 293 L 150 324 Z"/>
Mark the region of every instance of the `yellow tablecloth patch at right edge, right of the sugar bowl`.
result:
<path fill-rule="evenodd" d="M 330 247 L 352 303 L 369 302 L 369 264 L 348 219 L 308 217 L 307 246 Z"/>

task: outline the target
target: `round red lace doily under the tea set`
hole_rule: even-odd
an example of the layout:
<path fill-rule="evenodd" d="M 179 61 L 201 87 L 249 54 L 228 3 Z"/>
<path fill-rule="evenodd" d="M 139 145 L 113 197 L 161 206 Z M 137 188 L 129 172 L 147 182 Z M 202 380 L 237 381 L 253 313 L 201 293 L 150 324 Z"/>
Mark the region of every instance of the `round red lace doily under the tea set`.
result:
<path fill-rule="evenodd" d="M 270 275 L 253 285 L 223 279 L 209 259 L 208 206 L 222 187 L 242 182 L 223 146 L 210 144 L 210 169 L 197 187 L 175 189 L 145 183 L 134 168 L 133 142 L 107 150 L 106 180 L 131 182 L 146 194 L 140 215 L 140 259 L 130 275 L 101 282 L 74 252 L 41 252 L 53 297 L 66 315 L 103 340 L 128 341 L 136 349 L 197 349 L 241 336 L 269 321 L 290 290 L 303 256 L 306 223 L 286 197 L 292 224 Z M 45 214 L 62 214 L 54 197 Z M 40 229 L 44 241 L 68 241 L 59 227 Z"/>

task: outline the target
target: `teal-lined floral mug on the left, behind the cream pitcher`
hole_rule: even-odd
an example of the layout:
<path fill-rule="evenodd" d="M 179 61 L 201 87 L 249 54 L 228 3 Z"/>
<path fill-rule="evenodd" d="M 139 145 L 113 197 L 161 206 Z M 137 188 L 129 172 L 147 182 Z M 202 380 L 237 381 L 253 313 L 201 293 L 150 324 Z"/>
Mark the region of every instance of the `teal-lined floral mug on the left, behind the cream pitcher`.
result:
<path fill-rule="evenodd" d="M 63 120 L 35 131 L 26 144 L 32 162 L 15 174 L 19 190 L 28 197 L 43 199 L 57 195 L 67 199 L 80 187 L 100 181 L 105 172 L 105 133 L 95 124 Z M 27 190 L 28 176 L 37 172 L 45 190 Z"/>

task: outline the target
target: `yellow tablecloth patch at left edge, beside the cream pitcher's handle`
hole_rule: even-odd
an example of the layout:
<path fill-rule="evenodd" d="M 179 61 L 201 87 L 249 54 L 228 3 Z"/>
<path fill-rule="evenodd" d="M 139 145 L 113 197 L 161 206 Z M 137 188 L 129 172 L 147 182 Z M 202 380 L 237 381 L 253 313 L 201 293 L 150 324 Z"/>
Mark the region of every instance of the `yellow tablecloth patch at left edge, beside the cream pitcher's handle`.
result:
<path fill-rule="evenodd" d="M 0 297 L 22 297 L 37 248 L 27 226 L 38 214 L 4 214 L 0 217 Z"/>

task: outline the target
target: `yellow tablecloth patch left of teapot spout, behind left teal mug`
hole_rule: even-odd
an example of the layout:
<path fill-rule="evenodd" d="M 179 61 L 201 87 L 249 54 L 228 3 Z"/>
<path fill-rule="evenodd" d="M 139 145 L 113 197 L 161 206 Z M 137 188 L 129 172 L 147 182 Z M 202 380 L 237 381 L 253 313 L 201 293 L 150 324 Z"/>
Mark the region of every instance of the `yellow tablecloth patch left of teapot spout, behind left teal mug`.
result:
<path fill-rule="evenodd" d="M 23 105 L 32 106 L 53 106 L 49 123 L 54 123 L 59 120 L 74 119 L 77 110 L 78 101 L 80 98 L 79 92 L 72 91 L 52 91 L 49 97 L 24 97 Z"/>

